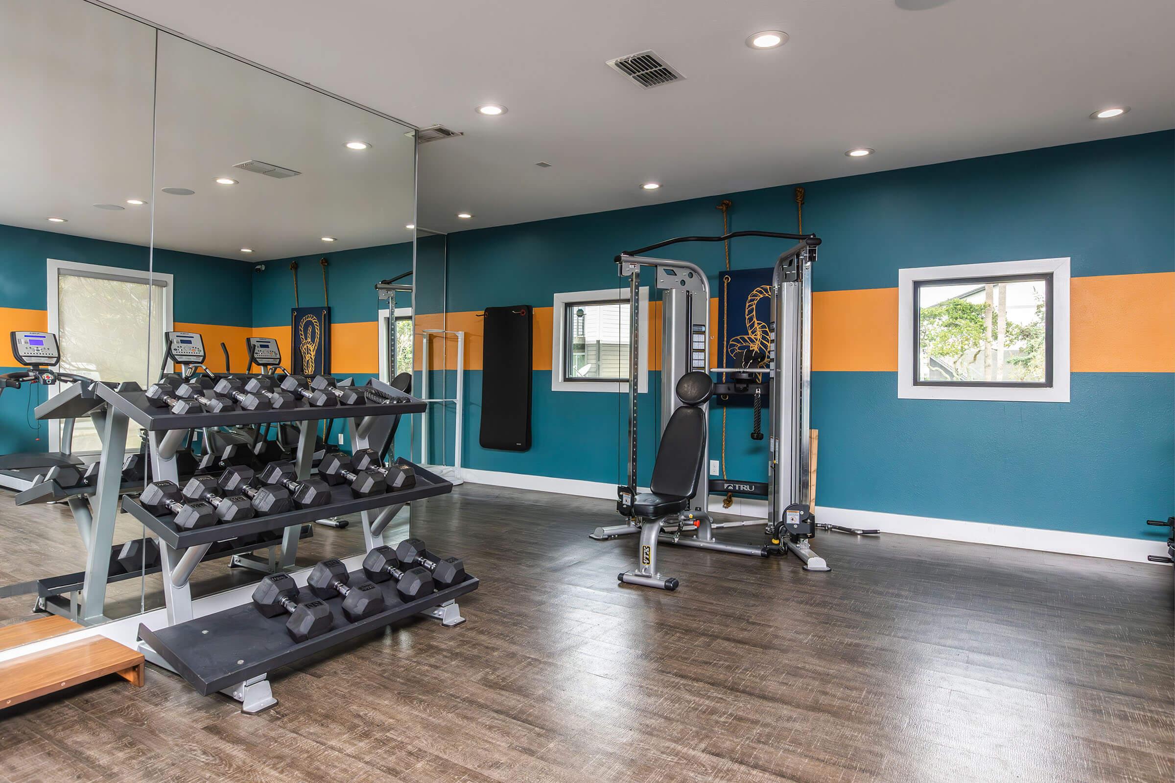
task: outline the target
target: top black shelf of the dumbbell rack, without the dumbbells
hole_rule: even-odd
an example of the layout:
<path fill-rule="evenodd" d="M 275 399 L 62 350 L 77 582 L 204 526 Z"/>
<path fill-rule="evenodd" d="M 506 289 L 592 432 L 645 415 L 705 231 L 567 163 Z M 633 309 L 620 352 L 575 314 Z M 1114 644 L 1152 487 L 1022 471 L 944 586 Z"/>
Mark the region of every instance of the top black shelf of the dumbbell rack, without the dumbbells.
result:
<path fill-rule="evenodd" d="M 369 401 L 364 405 L 306 405 L 267 411 L 224 411 L 222 413 L 172 413 L 168 407 L 153 406 L 147 399 L 147 392 L 119 392 L 105 384 L 95 384 L 95 387 L 99 397 L 148 432 L 248 426 L 254 424 L 275 424 L 278 421 L 351 419 L 368 416 L 400 416 L 402 413 L 421 413 L 427 407 L 424 403 L 415 397 L 389 390 L 387 392 L 381 391 L 381 393 L 391 399 L 403 401 Z M 355 390 L 368 396 L 369 399 L 372 393 L 368 386 L 355 386 Z"/>

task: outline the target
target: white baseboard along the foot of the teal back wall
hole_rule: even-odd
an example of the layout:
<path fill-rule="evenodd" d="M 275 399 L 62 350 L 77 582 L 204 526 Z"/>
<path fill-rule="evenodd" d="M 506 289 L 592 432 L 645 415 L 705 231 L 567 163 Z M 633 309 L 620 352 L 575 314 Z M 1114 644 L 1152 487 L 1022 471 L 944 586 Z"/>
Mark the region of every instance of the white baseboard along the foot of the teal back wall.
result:
<path fill-rule="evenodd" d="M 471 484 L 489 484 L 516 490 L 537 490 L 539 492 L 557 492 L 559 494 L 582 498 L 616 498 L 616 485 L 604 481 L 583 481 L 580 479 L 556 479 L 546 475 L 528 475 L 524 473 L 504 473 L 501 471 L 475 471 L 463 468 L 462 473 Z M 767 501 L 757 498 L 734 498 L 730 508 L 723 508 L 721 495 L 710 497 L 710 511 L 764 519 L 767 515 Z M 908 514 L 888 514 L 880 511 L 860 511 L 855 508 L 815 507 L 817 519 L 832 525 L 880 529 L 882 533 L 898 535 L 918 535 L 945 541 L 966 541 L 968 544 L 989 544 L 1013 547 L 1016 549 L 1036 549 L 1056 552 L 1059 554 L 1076 554 L 1089 558 L 1107 558 L 1110 560 L 1129 560 L 1148 562 L 1147 555 L 1167 554 L 1166 541 L 1146 539 L 1126 539 L 1114 535 L 1094 535 L 1092 533 L 1070 533 L 1067 531 L 1046 531 L 1035 527 L 1018 527 L 1014 525 L 995 525 L 991 522 L 967 522 L 958 519 L 936 519 L 933 517 L 911 517 Z"/>

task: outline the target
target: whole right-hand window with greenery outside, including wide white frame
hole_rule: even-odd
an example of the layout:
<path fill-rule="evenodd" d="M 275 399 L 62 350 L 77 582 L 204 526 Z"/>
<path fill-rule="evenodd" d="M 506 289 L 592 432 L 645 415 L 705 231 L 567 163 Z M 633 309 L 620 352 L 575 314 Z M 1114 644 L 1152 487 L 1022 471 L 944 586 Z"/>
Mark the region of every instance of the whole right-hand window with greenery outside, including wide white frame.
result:
<path fill-rule="evenodd" d="M 899 397 L 1069 400 L 1068 258 L 899 277 Z"/>

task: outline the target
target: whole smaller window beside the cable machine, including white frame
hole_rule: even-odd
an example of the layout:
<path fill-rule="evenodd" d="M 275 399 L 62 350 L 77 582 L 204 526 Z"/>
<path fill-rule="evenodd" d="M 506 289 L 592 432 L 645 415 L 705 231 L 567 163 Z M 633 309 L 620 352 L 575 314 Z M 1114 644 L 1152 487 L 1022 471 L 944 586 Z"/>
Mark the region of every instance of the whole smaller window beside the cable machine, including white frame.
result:
<path fill-rule="evenodd" d="M 647 289 L 640 291 L 638 329 L 646 333 Z M 627 391 L 631 344 L 629 292 L 575 291 L 555 295 L 551 389 Z M 647 390 L 647 343 L 642 340 L 639 391 Z"/>

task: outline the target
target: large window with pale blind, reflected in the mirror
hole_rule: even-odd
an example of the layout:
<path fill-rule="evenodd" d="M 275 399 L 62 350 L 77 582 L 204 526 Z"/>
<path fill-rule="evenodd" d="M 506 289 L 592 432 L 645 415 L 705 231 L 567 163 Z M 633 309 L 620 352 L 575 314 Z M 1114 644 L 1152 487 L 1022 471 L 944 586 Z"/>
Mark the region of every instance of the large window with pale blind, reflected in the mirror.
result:
<path fill-rule="evenodd" d="M 145 389 L 155 379 L 163 363 L 163 332 L 172 329 L 170 275 L 49 259 L 47 283 L 49 331 L 61 346 L 58 370 L 107 383 L 134 380 Z M 59 451 L 60 431 L 49 432 L 49 447 Z M 139 443 L 139 427 L 128 427 L 127 448 L 137 451 Z M 76 419 L 72 451 L 101 447 L 89 418 Z"/>

